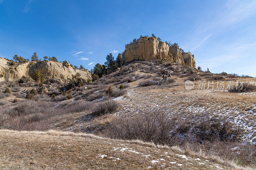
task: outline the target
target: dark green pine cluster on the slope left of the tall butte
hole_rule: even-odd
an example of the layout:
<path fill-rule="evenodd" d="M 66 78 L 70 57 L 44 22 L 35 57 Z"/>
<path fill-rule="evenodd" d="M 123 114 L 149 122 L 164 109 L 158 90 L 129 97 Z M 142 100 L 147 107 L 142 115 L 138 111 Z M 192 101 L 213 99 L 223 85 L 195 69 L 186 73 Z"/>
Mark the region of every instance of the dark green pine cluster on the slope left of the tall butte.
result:
<path fill-rule="evenodd" d="M 115 59 L 115 57 L 112 55 L 112 53 L 109 53 L 106 56 L 106 62 L 101 65 L 100 63 L 97 63 L 93 69 L 92 69 L 92 77 L 93 80 L 97 80 L 98 78 L 101 78 L 102 76 L 108 74 L 108 71 L 115 71 L 118 67 L 122 65 L 122 56 L 124 53 L 119 53 Z"/>

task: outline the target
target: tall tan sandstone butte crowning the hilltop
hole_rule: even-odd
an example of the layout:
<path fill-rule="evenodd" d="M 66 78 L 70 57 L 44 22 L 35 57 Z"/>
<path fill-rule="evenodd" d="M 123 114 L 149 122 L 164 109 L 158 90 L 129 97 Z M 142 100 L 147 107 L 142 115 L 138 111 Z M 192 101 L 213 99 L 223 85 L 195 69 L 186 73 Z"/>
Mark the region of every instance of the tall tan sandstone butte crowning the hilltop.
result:
<path fill-rule="evenodd" d="M 167 43 L 153 37 L 143 37 L 126 45 L 122 63 L 132 60 L 167 60 L 185 65 L 178 47 L 169 47 Z M 193 62 L 188 66 L 195 67 Z"/>

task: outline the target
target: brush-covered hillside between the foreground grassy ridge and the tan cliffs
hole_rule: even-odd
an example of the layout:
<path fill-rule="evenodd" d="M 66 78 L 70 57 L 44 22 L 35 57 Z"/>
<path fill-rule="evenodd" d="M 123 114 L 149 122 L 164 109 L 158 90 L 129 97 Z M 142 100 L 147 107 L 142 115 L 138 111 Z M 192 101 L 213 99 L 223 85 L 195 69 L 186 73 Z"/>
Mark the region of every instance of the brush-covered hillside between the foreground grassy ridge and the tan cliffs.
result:
<path fill-rule="evenodd" d="M 42 84 L 1 82 L 0 128 L 58 129 L 180 145 L 187 148 L 183 154 L 201 149 L 207 156 L 214 153 L 255 166 L 255 92 L 230 93 L 216 85 L 207 89 L 208 79 L 225 85 L 241 80 L 252 84 L 255 79 L 161 60 L 132 61 L 109 74 L 102 72 L 103 65 L 96 65 L 93 72 L 102 75 L 93 82 L 79 74 L 66 82 L 52 78 Z M 185 90 L 187 79 L 193 80 L 194 90 Z M 200 81 L 207 82 L 205 90 L 196 89 Z M 11 94 L 4 93 L 6 88 Z"/>

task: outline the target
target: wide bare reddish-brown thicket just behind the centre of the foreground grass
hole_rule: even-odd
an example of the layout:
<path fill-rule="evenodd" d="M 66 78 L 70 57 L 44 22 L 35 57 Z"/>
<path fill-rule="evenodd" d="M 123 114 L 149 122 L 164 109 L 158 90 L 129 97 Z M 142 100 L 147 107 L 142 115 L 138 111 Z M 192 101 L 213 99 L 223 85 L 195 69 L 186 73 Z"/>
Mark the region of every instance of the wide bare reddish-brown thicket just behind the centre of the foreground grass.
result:
<path fill-rule="evenodd" d="M 175 131 L 175 121 L 160 112 L 134 117 L 118 117 L 105 126 L 103 136 L 113 139 L 142 140 L 162 145 L 180 145 L 184 142 Z"/>

